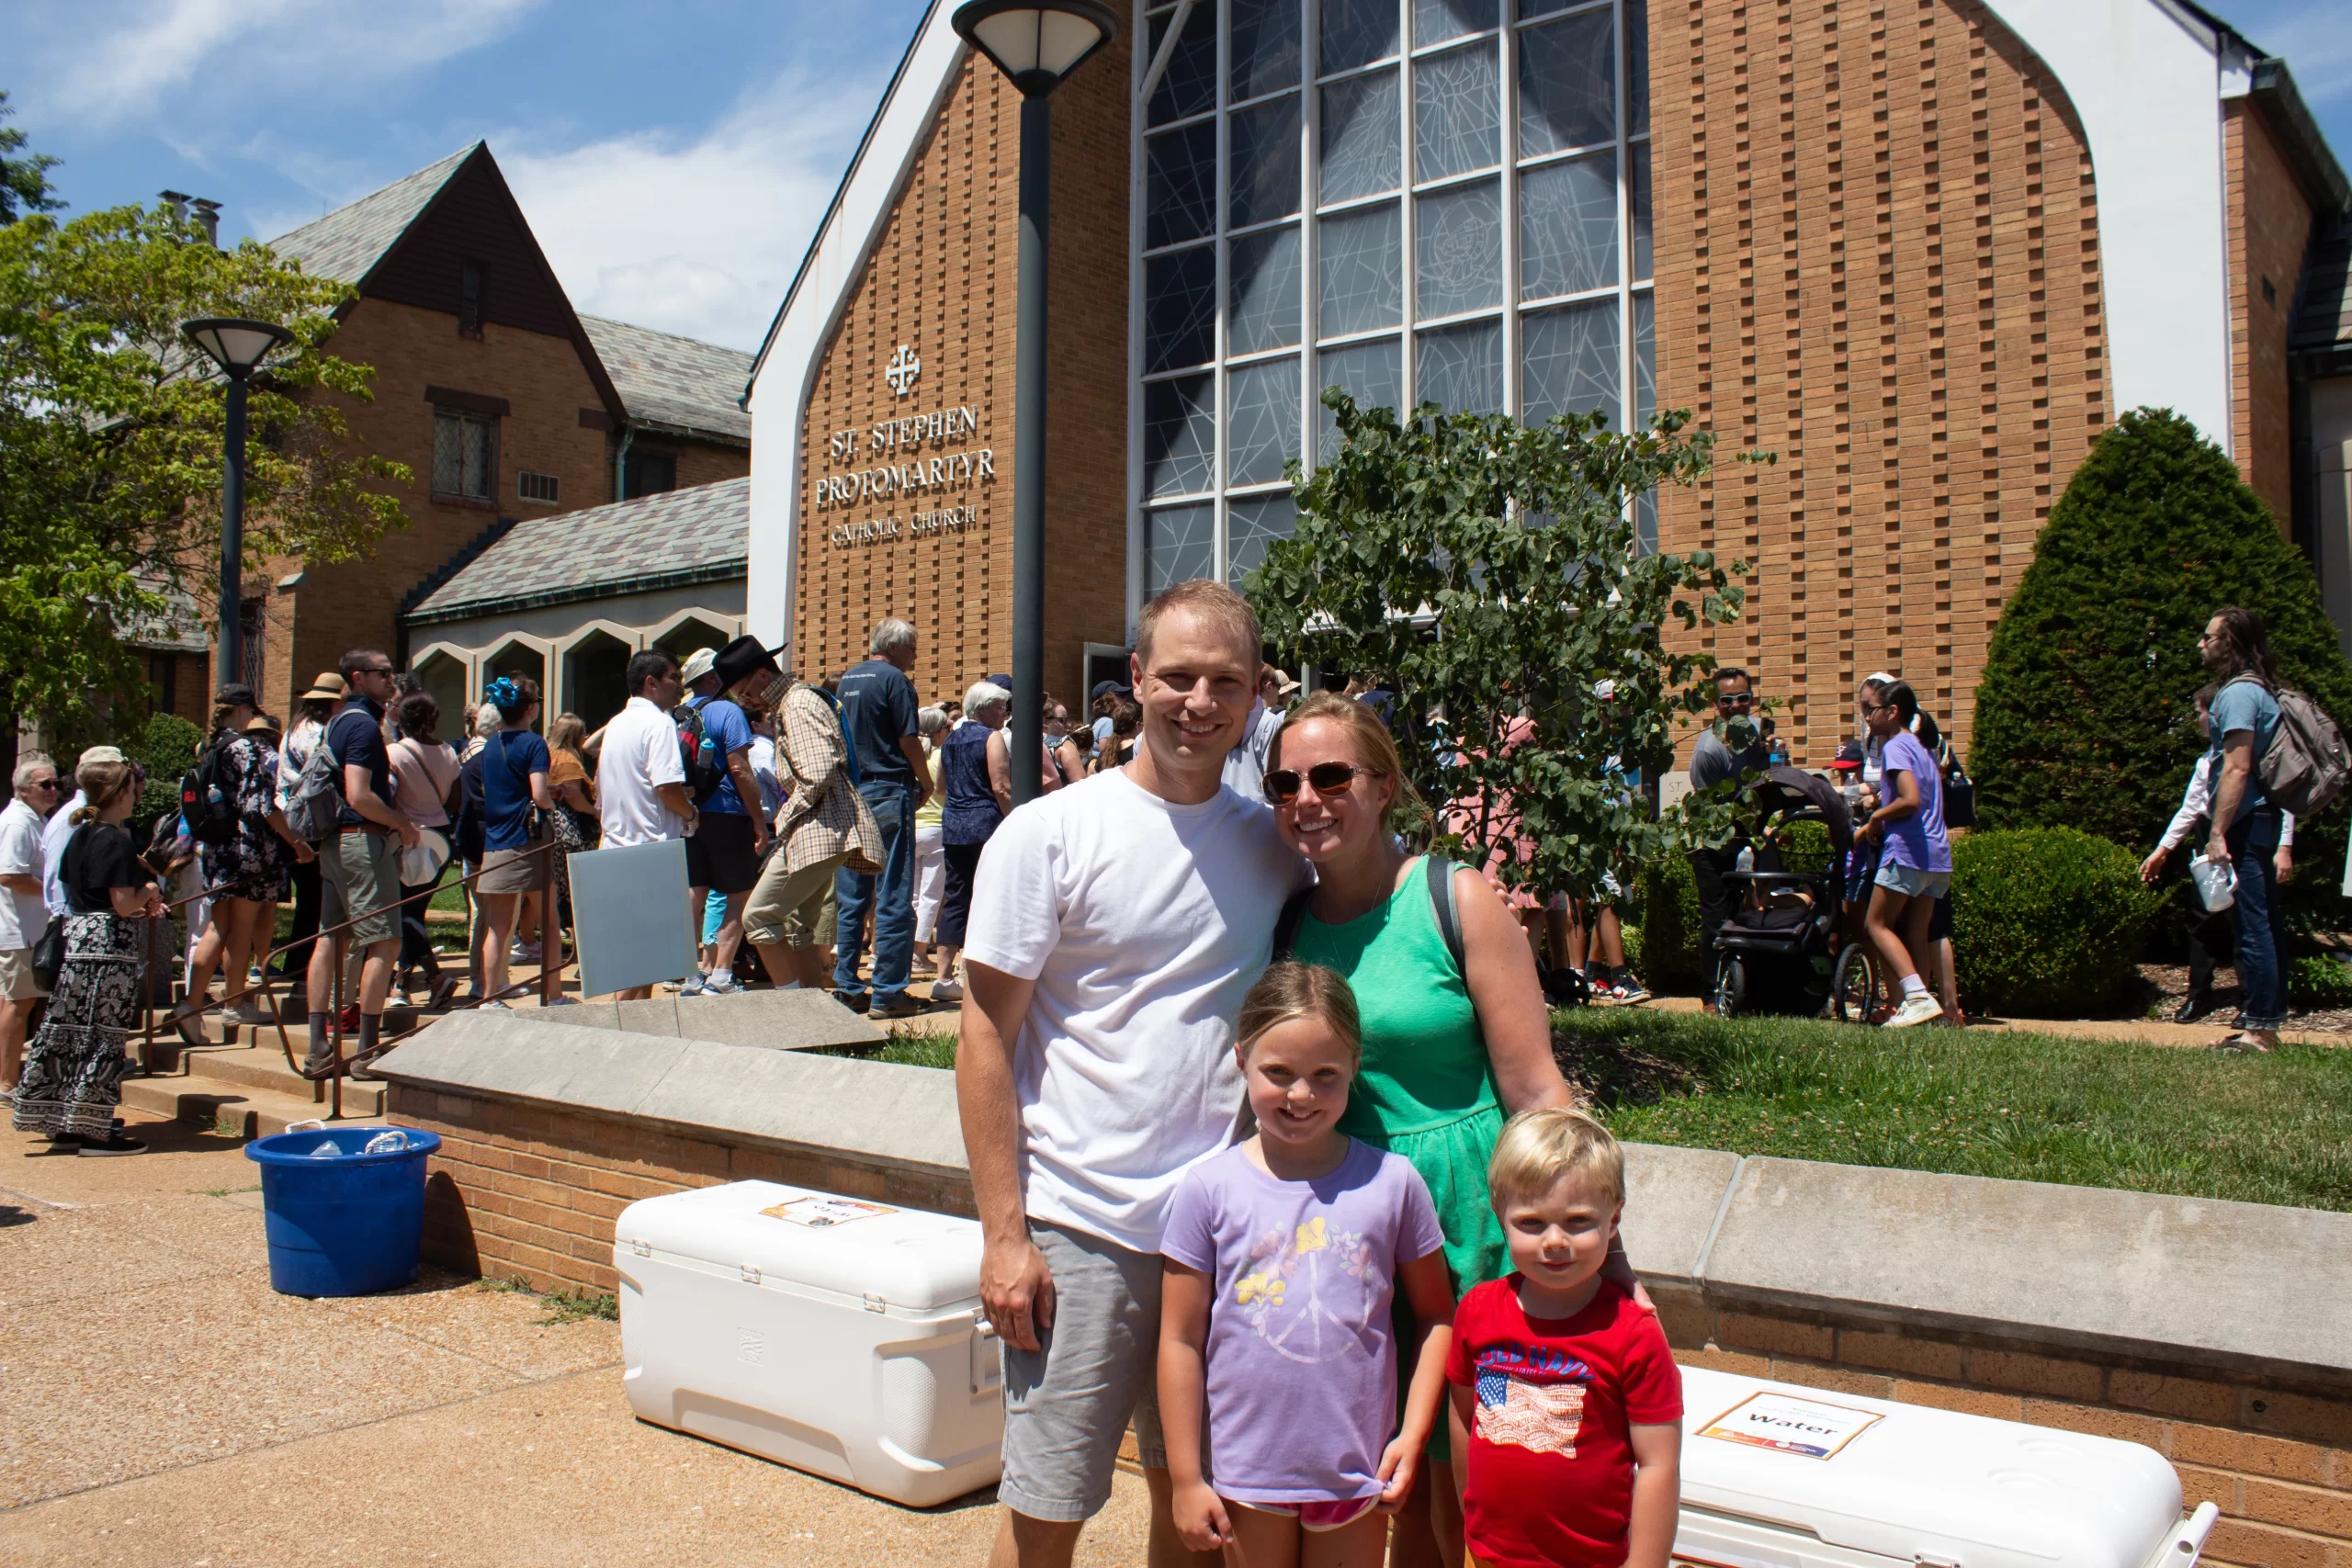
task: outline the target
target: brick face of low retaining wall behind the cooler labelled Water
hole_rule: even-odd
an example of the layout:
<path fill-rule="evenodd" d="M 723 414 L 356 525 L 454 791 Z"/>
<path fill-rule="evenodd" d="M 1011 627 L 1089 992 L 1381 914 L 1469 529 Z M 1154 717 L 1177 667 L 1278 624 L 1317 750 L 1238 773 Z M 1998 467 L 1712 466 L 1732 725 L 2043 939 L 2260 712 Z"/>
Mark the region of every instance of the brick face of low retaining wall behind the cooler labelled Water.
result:
<path fill-rule="evenodd" d="M 2352 1396 L 1915 1328 L 1717 1312 L 1672 1293 L 1661 1319 L 1684 1366 L 2147 1443 L 2180 1472 L 2187 1507 L 2220 1505 L 2206 1561 L 2352 1568 Z"/>

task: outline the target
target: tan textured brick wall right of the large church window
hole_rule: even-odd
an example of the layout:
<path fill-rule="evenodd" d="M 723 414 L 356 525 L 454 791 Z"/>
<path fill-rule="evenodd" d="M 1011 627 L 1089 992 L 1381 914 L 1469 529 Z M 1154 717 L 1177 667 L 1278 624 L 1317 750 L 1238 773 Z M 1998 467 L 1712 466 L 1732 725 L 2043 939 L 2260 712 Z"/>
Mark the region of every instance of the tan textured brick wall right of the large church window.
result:
<path fill-rule="evenodd" d="M 1722 442 L 1661 543 L 1755 571 L 1703 644 L 1788 701 L 1799 764 L 1877 668 L 1966 745 L 1992 623 L 2110 416 L 2063 92 L 1976 0 L 1653 0 L 1651 125 L 1658 397 Z"/>

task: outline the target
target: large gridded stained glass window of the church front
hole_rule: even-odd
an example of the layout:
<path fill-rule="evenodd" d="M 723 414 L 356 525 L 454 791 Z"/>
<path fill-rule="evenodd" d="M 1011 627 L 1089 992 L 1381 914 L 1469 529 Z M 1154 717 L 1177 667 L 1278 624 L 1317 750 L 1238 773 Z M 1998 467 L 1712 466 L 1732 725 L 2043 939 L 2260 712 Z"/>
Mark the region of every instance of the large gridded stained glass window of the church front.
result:
<path fill-rule="evenodd" d="M 1646 0 L 1138 0 L 1143 588 L 1240 578 L 1324 386 L 1656 411 Z M 1637 512 L 1644 538 L 1653 512 Z"/>

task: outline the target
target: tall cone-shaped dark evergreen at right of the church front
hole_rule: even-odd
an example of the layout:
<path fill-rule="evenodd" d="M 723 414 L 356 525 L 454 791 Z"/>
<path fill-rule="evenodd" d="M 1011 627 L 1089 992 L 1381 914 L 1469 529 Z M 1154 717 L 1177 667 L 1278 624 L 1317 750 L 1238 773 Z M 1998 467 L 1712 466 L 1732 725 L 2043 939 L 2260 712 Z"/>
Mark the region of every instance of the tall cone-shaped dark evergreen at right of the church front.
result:
<path fill-rule="evenodd" d="M 2263 498 L 2190 421 L 2124 414 L 2051 508 L 1992 632 L 1969 757 L 1983 825 L 2150 849 L 2206 748 L 2197 637 L 2232 604 L 2260 611 L 2288 686 L 2352 715 L 2319 578 Z"/>

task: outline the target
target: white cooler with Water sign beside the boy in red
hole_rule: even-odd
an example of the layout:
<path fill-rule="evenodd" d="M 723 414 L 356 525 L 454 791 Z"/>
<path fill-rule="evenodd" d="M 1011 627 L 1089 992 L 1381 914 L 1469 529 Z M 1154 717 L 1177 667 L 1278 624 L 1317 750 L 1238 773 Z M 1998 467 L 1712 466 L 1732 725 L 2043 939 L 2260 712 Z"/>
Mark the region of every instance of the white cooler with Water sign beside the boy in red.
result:
<path fill-rule="evenodd" d="M 2192 1568 L 2140 1443 L 1682 1368 L 1675 1556 L 1712 1568 Z"/>

